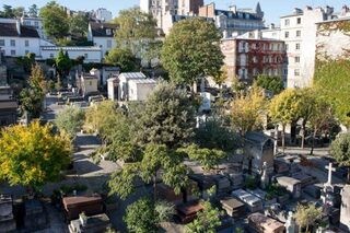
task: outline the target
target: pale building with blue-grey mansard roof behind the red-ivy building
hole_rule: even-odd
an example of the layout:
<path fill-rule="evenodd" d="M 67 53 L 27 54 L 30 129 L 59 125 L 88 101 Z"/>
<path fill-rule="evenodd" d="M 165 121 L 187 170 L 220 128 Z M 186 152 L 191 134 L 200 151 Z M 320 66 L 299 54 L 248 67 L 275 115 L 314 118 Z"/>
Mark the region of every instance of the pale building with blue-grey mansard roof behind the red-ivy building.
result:
<path fill-rule="evenodd" d="M 218 10 L 215 3 L 203 5 L 199 9 L 199 16 L 213 19 L 217 27 L 225 37 L 242 35 L 249 31 L 262 30 L 264 12 L 257 3 L 253 9 L 237 9 L 236 5 L 229 10 Z"/>

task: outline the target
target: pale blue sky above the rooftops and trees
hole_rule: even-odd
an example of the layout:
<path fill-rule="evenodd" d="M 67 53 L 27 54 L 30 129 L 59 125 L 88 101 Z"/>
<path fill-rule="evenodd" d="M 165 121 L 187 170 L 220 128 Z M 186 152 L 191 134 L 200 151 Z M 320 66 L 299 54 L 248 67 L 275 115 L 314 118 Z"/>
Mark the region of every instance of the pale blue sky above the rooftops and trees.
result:
<path fill-rule="evenodd" d="M 71 10 L 96 10 L 105 8 L 113 12 L 116 16 L 119 10 L 128 9 L 138 5 L 140 0 L 56 0 L 58 3 L 68 7 Z M 1 0 L 2 4 L 10 4 L 12 7 L 30 7 L 37 4 L 38 7 L 45 5 L 49 0 Z M 229 5 L 235 4 L 237 8 L 255 8 L 257 0 L 205 0 L 206 3 L 215 2 L 217 8 L 221 10 L 228 9 Z M 279 16 L 290 14 L 294 8 L 324 7 L 332 5 L 336 11 L 349 3 L 346 0 L 260 0 L 260 5 L 265 12 L 267 23 L 279 24 Z"/>

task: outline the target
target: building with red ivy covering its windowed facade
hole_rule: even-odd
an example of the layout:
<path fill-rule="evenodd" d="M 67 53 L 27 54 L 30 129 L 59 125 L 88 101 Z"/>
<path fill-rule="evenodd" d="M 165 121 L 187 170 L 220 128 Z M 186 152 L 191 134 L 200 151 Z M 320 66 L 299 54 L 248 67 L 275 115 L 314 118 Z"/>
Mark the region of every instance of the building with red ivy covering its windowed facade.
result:
<path fill-rule="evenodd" d="M 287 78 L 287 54 L 284 42 L 264 38 L 260 31 L 254 31 L 221 40 L 221 50 L 229 78 L 252 84 L 259 75 Z"/>

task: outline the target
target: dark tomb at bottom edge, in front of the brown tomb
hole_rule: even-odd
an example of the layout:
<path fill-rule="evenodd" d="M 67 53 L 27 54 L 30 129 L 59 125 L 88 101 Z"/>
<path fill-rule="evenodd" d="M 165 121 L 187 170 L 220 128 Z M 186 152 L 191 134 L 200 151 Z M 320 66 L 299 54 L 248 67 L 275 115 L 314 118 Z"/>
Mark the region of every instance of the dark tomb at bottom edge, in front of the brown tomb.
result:
<path fill-rule="evenodd" d="M 86 224 L 82 225 L 80 219 L 70 221 L 70 233 L 104 233 L 107 228 L 110 228 L 109 218 L 105 214 L 96 214 L 88 217 Z"/>

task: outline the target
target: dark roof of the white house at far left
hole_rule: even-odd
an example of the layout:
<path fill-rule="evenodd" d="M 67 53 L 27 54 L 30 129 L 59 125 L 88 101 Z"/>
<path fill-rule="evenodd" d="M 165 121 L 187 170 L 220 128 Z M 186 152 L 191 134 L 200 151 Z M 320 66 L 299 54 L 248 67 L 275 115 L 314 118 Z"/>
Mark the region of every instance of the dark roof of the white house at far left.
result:
<path fill-rule="evenodd" d="M 39 38 L 34 27 L 24 25 L 21 25 L 21 35 L 19 35 L 15 23 L 0 23 L 0 36 Z"/>

